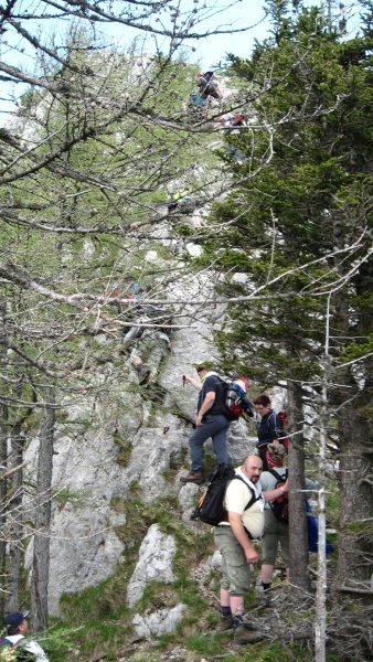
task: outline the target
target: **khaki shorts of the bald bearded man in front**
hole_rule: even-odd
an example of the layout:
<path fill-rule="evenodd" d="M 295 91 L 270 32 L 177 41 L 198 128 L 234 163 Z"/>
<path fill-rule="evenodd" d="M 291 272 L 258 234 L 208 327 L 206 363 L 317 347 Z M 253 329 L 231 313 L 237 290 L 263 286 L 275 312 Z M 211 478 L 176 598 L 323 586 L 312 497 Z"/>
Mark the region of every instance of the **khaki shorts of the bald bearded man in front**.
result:
<path fill-rule="evenodd" d="M 231 596 L 243 596 L 251 587 L 251 567 L 231 526 L 220 526 L 214 531 L 215 545 L 222 554 L 221 587 Z"/>

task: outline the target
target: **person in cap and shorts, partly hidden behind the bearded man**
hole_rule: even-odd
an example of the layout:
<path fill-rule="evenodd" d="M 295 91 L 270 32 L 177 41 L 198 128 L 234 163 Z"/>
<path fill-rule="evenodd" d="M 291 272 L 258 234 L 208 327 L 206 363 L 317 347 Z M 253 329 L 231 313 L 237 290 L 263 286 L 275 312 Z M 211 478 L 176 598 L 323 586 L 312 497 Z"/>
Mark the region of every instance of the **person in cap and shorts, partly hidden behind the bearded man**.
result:
<path fill-rule="evenodd" d="M 278 477 L 287 479 L 287 469 L 284 467 L 286 450 L 281 445 L 269 444 L 267 447 L 268 471 L 263 471 L 260 483 L 263 490 L 273 490 L 279 482 Z M 275 471 L 276 477 L 271 471 Z M 316 490 L 317 485 L 312 480 L 306 478 L 307 490 Z M 281 547 L 281 558 L 286 567 L 286 575 L 289 577 L 289 522 L 287 519 L 281 522 L 275 516 L 269 503 L 265 505 L 265 525 L 262 538 L 262 588 L 265 594 L 270 589 L 274 576 L 275 563 L 278 553 L 278 546 Z M 268 595 L 268 594 L 267 594 Z"/>

